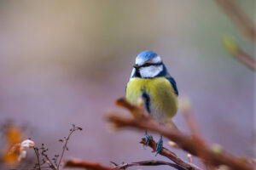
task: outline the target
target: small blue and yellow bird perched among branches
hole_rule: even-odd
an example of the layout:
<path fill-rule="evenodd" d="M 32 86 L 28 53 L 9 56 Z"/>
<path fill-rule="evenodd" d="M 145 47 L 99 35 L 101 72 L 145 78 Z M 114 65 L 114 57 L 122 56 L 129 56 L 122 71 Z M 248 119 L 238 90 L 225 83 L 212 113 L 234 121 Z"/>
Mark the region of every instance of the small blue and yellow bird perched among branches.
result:
<path fill-rule="evenodd" d="M 137 55 L 131 77 L 125 87 L 125 94 L 125 98 L 134 105 L 138 104 L 138 99 L 143 99 L 144 110 L 148 116 L 160 124 L 176 127 L 172 117 L 178 109 L 177 83 L 167 71 L 160 55 L 150 50 Z M 149 139 L 153 139 L 147 130 L 144 137 L 146 145 L 149 144 Z M 160 153 L 162 147 L 163 139 L 160 135 L 155 156 Z"/>

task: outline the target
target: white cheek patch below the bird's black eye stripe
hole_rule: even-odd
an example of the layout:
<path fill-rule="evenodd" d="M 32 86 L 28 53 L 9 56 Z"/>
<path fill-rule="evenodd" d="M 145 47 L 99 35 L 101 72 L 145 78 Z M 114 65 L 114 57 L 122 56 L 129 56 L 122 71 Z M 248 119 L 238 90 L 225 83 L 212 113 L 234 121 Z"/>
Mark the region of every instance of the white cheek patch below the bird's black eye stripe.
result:
<path fill-rule="evenodd" d="M 140 68 L 140 74 L 143 78 L 153 78 L 163 71 L 163 65 L 150 65 Z"/>

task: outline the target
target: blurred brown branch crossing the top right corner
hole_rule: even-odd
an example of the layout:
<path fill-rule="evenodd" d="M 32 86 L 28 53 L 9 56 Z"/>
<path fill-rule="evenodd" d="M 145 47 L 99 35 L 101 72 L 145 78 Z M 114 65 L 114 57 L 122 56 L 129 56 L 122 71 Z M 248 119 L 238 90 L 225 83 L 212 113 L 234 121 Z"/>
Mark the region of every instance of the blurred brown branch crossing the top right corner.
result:
<path fill-rule="evenodd" d="M 223 8 L 241 33 L 250 40 L 255 41 L 256 31 L 253 20 L 241 9 L 236 0 L 216 0 L 216 2 Z"/>

